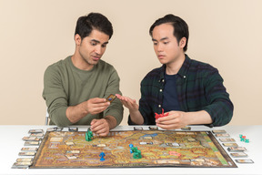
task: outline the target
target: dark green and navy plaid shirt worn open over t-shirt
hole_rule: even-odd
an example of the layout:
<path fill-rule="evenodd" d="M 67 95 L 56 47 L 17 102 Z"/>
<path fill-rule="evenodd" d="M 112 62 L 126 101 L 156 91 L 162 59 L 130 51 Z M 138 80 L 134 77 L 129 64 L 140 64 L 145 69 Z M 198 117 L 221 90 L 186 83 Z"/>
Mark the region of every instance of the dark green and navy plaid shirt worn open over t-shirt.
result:
<path fill-rule="evenodd" d="M 166 65 L 153 69 L 141 81 L 139 111 L 144 118 L 144 125 L 156 125 L 155 113 L 162 113 L 165 71 Z M 217 68 L 190 59 L 186 55 L 177 75 L 174 88 L 176 88 L 182 111 L 206 110 L 213 120 L 213 123 L 208 125 L 209 127 L 229 123 L 233 116 L 234 106 Z M 134 124 L 130 116 L 128 124 Z"/>

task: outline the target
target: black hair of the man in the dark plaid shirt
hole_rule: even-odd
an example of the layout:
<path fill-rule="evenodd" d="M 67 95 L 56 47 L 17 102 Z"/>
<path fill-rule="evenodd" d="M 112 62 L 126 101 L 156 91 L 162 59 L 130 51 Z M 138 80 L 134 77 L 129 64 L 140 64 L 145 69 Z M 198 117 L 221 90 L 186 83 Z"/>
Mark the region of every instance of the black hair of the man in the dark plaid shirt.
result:
<path fill-rule="evenodd" d="M 168 14 L 162 18 L 157 19 L 156 22 L 149 29 L 150 36 L 152 36 L 152 32 L 156 26 L 166 23 L 170 23 L 170 25 L 174 27 L 174 36 L 176 37 L 177 43 L 179 43 L 182 37 L 186 37 L 186 45 L 183 48 L 184 52 L 186 52 L 187 42 L 189 38 L 188 26 L 182 18 L 176 15 Z"/>

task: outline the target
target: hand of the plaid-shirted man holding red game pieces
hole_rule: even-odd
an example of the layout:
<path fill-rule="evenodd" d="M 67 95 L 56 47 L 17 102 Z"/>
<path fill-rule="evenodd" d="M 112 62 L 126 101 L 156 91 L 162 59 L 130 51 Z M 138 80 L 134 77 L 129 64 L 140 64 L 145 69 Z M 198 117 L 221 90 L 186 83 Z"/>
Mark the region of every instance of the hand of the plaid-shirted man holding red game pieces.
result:
<path fill-rule="evenodd" d="M 188 125 L 186 112 L 173 110 L 168 113 L 169 113 L 168 116 L 164 118 L 156 119 L 157 127 L 169 130 L 169 129 L 181 129 L 183 127 L 186 127 L 186 125 Z"/>

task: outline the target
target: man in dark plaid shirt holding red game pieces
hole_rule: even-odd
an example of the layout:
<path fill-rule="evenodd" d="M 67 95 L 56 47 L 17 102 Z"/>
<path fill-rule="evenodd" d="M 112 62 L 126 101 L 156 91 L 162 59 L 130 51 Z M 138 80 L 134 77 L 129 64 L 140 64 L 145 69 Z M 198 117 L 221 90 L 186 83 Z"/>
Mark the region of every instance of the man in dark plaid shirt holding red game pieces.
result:
<path fill-rule="evenodd" d="M 129 109 L 128 124 L 181 129 L 229 123 L 234 107 L 217 68 L 185 54 L 189 36 L 186 22 L 176 15 L 165 15 L 156 20 L 149 33 L 163 66 L 142 80 L 139 106 L 135 99 L 116 95 Z M 166 117 L 156 119 L 155 113 L 162 113 L 162 109 Z"/>

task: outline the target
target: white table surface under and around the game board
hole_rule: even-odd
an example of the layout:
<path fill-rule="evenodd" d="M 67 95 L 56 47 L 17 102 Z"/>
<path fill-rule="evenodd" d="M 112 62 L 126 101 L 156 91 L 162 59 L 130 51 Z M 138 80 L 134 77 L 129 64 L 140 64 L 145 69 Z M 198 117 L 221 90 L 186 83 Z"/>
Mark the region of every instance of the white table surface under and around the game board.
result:
<path fill-rule="evenodd" d="M 191 126 L 191 130 L 226 129 L 230 138 L 236 139 L 237 144 L 247 148 L 247 159 L 253 164 L 237 164 L 237 168 L 111 168 L 111 169 L 11 169 L 19 158 L 18 153 L 24 146 L 23 137 L 28 136 L 29 129 L 44 129 L 50 126 L 0 125 L 0 174 L 262 174 L 262 126 L 226 126 L 209 129 L 203 126 Z M 86 131 L 85 126 L 78 127 Z M 144 127 L 148 129 L 148 126 Z M 129 126 L 119 126 L 115 130 L 133 129 Z M 64 129 L 66 130 L 66 129 Z M 247 136 L 249 143 L 240 141 L 239 134 Z M 225 147 L 224 147 L 225 149 Z M 232 160 L 236 160 L 232 158 Z"/>

